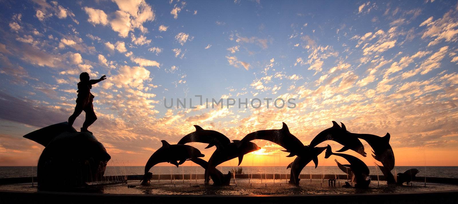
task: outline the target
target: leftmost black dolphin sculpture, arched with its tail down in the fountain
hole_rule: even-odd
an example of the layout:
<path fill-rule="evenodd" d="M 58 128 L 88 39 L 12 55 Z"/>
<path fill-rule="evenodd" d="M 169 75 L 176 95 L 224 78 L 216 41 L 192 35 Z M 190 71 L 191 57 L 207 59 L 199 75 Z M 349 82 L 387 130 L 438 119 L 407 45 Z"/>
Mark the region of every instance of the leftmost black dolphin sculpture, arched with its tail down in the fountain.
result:
<path fill-rule="evenodd" d="M 149 185 L 149 181 L 153 175 L 149 170 L 158 163 L 168 162 L 178 167 L 185 163 L 186 160 L 205 156 L 198 149 L 190 145 L 170 145 L 165 140 L 161 140 L 161 142 L 162 147 L 149 157 L 145 165 L 145 175 L 143 175 L 142 179 L 142 185 L 144 186 Z"/>

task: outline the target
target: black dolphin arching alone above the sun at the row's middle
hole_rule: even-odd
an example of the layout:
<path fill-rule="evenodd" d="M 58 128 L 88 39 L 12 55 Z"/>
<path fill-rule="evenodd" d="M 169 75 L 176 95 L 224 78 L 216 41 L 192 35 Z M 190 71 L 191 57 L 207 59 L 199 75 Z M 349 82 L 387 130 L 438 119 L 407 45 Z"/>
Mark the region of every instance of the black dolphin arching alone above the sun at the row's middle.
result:
<path fill-rule="evenodd" d="M 241 141 L 251 140 L 268 140 L 276 143 L 286 149 L 282 151 L 290 153 L 287 157 L 300 156 L 305 149 L 304 144 L 289 132 L 286 123 L 283 123 L 282 129 L 265 129 L 252 132 L 247 134 Z"/>

